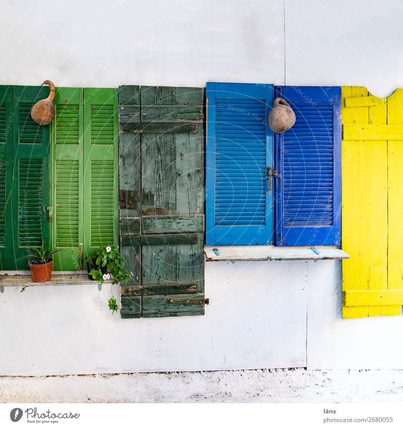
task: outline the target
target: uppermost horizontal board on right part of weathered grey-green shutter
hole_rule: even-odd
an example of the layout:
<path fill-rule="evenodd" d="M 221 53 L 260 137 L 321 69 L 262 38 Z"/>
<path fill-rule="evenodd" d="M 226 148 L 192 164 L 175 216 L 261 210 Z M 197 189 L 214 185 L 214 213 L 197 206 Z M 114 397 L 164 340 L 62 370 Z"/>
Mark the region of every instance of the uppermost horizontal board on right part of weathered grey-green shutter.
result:
<path fill-rule="evenodd" d="M 141 106 L 142 122 L 200 122 L 203 105 L 144 105 Z"/>

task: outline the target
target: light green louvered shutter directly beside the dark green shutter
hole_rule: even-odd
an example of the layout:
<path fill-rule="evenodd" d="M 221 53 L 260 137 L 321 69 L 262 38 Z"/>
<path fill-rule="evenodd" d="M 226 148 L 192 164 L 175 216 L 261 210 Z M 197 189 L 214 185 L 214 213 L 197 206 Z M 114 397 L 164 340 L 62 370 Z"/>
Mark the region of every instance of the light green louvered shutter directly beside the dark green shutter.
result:
<path fill-rule="evenodd" d="M 83 137 L 81 88 L 57 88 L 52 124 L 54 270 L 83 268 Z"/>

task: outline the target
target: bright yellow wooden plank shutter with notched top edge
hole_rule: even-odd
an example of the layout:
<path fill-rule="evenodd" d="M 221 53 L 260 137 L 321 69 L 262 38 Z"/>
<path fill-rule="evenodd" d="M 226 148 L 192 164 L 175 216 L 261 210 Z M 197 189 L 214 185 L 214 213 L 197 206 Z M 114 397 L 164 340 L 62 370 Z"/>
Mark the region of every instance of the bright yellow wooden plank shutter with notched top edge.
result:
<path fill-rule="evenodd" d="M 401 315 L 403 89 L 342 89 L 343 318 Z"/>

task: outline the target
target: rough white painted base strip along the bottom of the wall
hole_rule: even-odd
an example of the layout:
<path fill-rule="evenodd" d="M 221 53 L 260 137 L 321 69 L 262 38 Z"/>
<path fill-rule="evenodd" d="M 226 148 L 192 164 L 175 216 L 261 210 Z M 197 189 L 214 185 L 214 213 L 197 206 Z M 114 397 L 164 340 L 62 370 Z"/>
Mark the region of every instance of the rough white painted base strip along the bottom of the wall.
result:
<path fill-rule="evenodd" d="M 395 403 L 402 370 L 304 369 L 0 377 L 0 401 L 22 403 Z"/>

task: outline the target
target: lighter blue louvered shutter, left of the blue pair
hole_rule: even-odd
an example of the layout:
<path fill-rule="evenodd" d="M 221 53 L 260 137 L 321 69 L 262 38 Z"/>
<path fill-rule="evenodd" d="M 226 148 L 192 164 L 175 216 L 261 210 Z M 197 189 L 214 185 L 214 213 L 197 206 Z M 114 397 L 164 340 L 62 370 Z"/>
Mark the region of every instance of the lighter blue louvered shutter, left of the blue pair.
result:
<path fill-rule="evenodd" d="M 272 243 L 273 85 L 207 83 L 206 241 Z"/>

